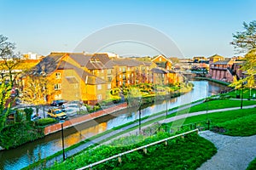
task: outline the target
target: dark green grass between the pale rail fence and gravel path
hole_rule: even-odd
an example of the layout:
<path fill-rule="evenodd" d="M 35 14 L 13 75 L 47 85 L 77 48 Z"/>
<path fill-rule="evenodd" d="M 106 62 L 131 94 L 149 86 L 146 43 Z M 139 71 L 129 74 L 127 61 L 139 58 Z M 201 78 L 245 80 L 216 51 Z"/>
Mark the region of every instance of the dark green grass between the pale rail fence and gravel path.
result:
<path fill-rule="evenodd" d="M 196 135 L 153 147 L 147 154 L 113 169 L 196 169 L 217 152 L 211 142 Z"/>

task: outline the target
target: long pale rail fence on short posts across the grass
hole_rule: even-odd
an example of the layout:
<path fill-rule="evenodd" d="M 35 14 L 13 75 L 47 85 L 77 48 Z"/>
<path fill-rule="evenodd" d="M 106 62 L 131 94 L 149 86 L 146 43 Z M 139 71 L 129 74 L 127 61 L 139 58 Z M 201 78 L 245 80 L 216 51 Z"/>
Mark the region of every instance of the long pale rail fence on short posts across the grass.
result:
<path fill-rule="evenodd" d="M 160 144 L 160 143 L 163 143 L 163 142 L 165 142 L 166 145 L 167 145 L 167 144 L 168 144 L 168 140 L 170 140 L 170 139 L 175 139 L 175 138 L 177 138 L 177 137 L 182 137 L 182 138 L 183 138 L 183 136 L 184 136 L 185 134 L 194 133 L 194 132 L 198 133 L 199 130 L 196 128 L 196 129 L 191 130 L 191 131 L 186 132 L 186 133 L 180 133 L 180 134 L 177 134 L 177 135 L 175 135 L 175 136 L 172 136 L 172 137 L 169 137 L 169 138 L 166 138 L 166 139 L 161 139 L 160 141 L 156 141 L 156 142 L 151 143 L 151 144 L 146 144 L 146 145 L 143 145 L 143 146 L 138 147 L 138 148 L 133 149 L 133 150 L 125 151 L 125 152 L 123 152 L 123 153 L 120 153 L 119 155 L 115 155 L 115 156 L 108 157 L 107 159 L 104 159 L 104 160 L 102 160 L 102 161 L 96 161 L 95 163 L 92 163 L 92 164 L 87 165 L 87 166 L 85 166 L 85 167 L 80 167 L 78 170 L 83 170 L 83 169 L 87 169 L 87 168 L 92 169 L 92 167 L 94 167 L 94 166 L 96 166 L 96 165 L 99 165 L 99 164 L 101 164 L 101 163 L 103 163 L 103 162 L 105 162 L 105 161 L 113 160 L 113 159 L 115 159 L 115 158 L 118 158 L 119 162 L 121 162 L 121 160 L 122 160 L 122 159 L 121 159 L 121 156 L 124 156 L 124 155 L 126 155 L 126 154 L 129 154 L 129 153 L 134 152 L 134 151 L 137 151 L 137 150 L 143 150 L 143 151 L 146 153 L 146 152 L 147 152 L 147 148 L 148 148 L 149 146 L 152 146 L 152 145 L 154 145 L 154 144 Z"/>

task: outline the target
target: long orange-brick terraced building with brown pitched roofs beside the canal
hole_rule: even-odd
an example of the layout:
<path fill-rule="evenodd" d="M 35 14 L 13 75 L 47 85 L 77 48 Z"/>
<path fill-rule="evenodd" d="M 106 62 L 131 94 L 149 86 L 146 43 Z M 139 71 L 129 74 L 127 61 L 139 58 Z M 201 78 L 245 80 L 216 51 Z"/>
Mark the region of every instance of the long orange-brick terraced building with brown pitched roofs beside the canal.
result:
<path fill-rule="evenodd" d="M 32 74 L 48 80 L 44 87 L 48 90 L 44 96 L 47 103 L 65 99 L 95 105 L 107 99 L 112 88 L 141 82 L 162 83 L 158 77 L 164 77 L 165 84 L 177 82 L 169 60 L 166 66 L 160 68 L 152 61 L 109 58 L 108 54 L 51 53 L 32 69 Z M 23 81 L 26 88 L 26 78 Z"/>

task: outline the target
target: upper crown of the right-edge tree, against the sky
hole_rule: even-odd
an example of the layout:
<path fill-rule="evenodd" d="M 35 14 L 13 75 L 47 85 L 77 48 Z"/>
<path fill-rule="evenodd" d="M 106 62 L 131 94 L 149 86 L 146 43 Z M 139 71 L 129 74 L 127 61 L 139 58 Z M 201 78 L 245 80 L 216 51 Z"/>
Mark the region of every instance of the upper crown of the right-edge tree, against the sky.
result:
<path fill-rule="evenodd" d="M 249 50 L 256 48 L 256 20 L 250 23 L 243 22 L 244 31 L 237 31 L 233 34 L 233 42 L 238 53 L 247 53 Z"/>

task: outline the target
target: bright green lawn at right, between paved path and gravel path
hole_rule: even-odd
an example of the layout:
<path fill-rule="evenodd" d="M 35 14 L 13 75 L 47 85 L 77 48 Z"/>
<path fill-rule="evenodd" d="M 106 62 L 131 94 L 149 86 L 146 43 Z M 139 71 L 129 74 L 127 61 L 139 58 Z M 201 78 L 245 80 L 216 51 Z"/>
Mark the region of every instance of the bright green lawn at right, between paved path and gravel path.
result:
<path fill-rule="evenodd" d="M 251 136 L 256 134 L 256 108 L 191 116 L 179 121 L 184 121 L 183 124 L 205 122 L 205 124 L 201 123 L 201 126 L 207 127 L 207 116 L 211 121 L 212 130 L 214 130 L 214 127 L 221 127 L 224 129 L 223 134 L 232 136 Z M 172 123 L 170 122 L 168 125 L 172 127 Z"/>

